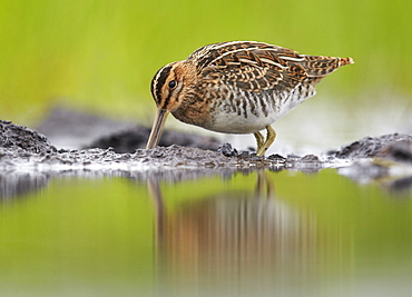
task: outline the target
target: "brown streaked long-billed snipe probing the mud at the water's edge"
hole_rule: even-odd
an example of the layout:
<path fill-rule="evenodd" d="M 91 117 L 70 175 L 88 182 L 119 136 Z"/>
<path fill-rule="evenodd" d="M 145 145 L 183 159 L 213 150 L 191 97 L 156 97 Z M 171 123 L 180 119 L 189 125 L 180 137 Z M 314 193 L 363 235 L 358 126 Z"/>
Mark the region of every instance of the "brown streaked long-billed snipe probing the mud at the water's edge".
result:
<path fill-rule="evenodd" d="M 169 112 L 183 122 L 224 133 L 254 133 L 257 156 L 273 143 L 271 125 L 315 95 L 325 76 L 352 58 L 307 56 L 255 41 L 205 46 L 166 65 L 151 80 L 157 105 L 147 148 L 157 146 Z M 259 132 L 267 130 L 266 139 Z"/>

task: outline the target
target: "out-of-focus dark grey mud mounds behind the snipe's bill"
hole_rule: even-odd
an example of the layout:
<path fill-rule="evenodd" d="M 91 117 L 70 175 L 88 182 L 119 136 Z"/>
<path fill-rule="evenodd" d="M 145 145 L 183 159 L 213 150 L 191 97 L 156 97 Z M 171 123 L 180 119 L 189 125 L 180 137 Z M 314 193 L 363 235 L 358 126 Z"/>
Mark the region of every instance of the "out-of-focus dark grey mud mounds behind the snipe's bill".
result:
<path fill-rule="evenodd" d="M 116 152 L 135 152 L 145 148 L 150 129 L 127 120 L 112 120 L 63 107 L 53 108 L 46 120 L 36 129 L 57 147 L 112 148 Z M 213 137 L 165 130 L 159 146 L 180 145 L 217 150 L 220 141 Z"/>

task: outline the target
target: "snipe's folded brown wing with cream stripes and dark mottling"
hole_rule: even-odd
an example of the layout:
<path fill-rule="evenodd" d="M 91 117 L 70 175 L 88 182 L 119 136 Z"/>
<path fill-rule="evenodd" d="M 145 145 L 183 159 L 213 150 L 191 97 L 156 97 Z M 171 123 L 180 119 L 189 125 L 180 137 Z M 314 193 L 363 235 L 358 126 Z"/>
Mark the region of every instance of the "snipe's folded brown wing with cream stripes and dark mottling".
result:
<path fill-rule="evenodd" d="M 262 42 L 223 42 L 192 56 L 205 80 L 220 80 L 244 91 L 290 92 L 307 78 L 296 51 Z M 189 59 L 190 59 L 189 57 Z"/>

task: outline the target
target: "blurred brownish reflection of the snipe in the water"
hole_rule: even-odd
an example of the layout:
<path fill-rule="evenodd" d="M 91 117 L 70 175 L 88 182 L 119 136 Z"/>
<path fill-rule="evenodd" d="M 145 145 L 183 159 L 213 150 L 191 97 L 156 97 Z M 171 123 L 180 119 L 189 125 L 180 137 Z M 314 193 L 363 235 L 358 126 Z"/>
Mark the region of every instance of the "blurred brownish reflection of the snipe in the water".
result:
<path fill-rule="evenodd" d="M 315 257 L 314 220 L 276 197 L 266 171 L 256 176 L 249 191 L 223 191 L 171 211 L 165 208 L 157 180 L 150 179 L 158 268 L 177 278 L 202 273 L 202 277 L 235 276 L 236 281 L 251 273 L 265 277 L 271 276 L 268 270 L 305 273 L 301 261 Z"/>

